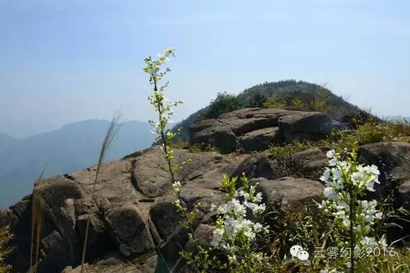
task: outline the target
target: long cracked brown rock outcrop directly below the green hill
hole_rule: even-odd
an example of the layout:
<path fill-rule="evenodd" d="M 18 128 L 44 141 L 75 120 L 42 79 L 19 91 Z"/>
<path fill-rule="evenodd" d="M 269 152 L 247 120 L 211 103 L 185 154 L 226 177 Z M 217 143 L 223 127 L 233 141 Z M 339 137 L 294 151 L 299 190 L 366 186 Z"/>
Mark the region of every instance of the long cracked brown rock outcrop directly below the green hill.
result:
<path fill-rule="evenodd" d="M 266 150 L 271 144 L 321 139 L 343 128 L 321 112 L 247 108 L 189 127 L 191 143 L 205 143 L 221 152 Z"/>

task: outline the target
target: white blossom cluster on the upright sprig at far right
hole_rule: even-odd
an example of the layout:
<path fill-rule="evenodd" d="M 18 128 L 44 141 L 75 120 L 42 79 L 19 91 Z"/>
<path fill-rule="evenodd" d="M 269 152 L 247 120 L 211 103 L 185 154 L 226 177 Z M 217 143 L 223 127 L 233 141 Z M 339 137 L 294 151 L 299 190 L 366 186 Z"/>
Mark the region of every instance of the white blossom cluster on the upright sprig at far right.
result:
<path fill-rule="evenodd" d="M 325 183 L 325 200 L 318 204 L 319 209 L 332 216 L 334 224 L 345 234 L 349 234 L 350 240 L 355 240 L 355 245 L 368 249 L 377 245 L 386 247 L 384 238 L 377 241 L 368 236 L 373 231 L 376 220 L 383 215 L 376 209 L 377 201 L 358 199 L 359 196 L 366 195 L 366 191 L 375 191 L 374 186 L 379 184 L 380 174 L 377 166 L 359 165 L 355 151 L 343 160 L 339 153 L 330 150 L 327 152 L 327 158 L 328 167 L 320 178 Z M 339 243 L 345 247 L 349 245 L 349 242 L 344 240 Z"/>

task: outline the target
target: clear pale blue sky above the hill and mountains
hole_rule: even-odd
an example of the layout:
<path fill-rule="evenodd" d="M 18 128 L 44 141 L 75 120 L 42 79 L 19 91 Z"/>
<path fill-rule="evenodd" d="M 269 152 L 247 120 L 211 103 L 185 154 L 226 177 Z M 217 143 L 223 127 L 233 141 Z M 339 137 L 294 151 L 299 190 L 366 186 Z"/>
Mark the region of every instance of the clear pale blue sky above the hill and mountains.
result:
<path fill-rule="evenodd" d="M 153 118 L 144 57 L 176 48 L 173 121 L 220 91 L 327 84 L 379 116 L 410 116 L 410 2 L 0 1 L 0 132 Z"/>

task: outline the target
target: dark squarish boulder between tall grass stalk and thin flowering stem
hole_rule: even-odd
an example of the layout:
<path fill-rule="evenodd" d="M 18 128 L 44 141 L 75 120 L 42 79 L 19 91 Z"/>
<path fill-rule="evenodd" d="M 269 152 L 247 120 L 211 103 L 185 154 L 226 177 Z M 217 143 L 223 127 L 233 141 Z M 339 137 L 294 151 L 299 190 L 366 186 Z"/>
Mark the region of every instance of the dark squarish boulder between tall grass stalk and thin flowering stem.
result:
<path fill-rule="evenodd" d="M 137 206 L 123 204 L 112 210 L 106 216 L 106 221 L 112 240 L 124 256 L 142 254 L 153 249 L 153 238 Z"/>

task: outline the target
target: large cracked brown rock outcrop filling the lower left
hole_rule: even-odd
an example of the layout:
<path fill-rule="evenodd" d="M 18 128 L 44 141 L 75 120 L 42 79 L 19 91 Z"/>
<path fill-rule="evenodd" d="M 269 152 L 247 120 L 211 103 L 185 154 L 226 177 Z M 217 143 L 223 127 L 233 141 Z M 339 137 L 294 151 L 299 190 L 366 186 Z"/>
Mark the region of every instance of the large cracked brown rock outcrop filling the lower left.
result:
<path fill-rule="evenodd" d="M 173 197 L 167 194 L 171 184 L 162 153 L 159 147 L 154 147 L 103 164 L 91 215 L 88 215 L 89 196 L 96 167 L 35 184 L 34 192 L 42 197 L 45 215 L 40 272 L 61 272 L 65 267 L 72 270 L 79 265 L 89 217 L 88 262 L 117 261 L 112 255 L 125 260 L 156 255 L 160 245 L 163 258 L 157 266 L 164 266 L 163 260 L 175 263 L 180 247 L 187 242 L 187 233 L 179 229 L 183 218 L 172 204 Z M 221 202 L 216 190 L 222 174 L 232 173 L 243 158 L 244 155 L 228 157 L 216 152 L 175 150 L 176 162 L 188 162 L 176 175 L 183 184 L 182 200 L 189 207 L 200 202 L 198 220 L 210 213 L 212 204 Z M 18 249 L 10 256 L 10 262 L 16 272 L 26 272 L 30 256 L 31 196 L 1 211 L 0 224 L 10 224 L 16 235 L 13 243 Z M 105 265 L 99 263 L 99 267 Z"/>

